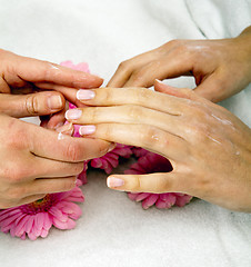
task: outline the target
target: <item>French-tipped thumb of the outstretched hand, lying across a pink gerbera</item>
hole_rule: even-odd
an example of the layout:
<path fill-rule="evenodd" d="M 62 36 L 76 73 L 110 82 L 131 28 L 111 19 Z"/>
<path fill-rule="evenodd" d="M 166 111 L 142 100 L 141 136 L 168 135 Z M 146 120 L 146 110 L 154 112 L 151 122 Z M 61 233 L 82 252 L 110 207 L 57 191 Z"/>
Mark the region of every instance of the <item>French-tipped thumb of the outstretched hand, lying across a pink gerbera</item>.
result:
<path fill-rule="evenodd" d="M 183 192 L 189 194 L 189 181 L 177 172 L 149 175 L 112 175 L 107 179 L 111 189 L 131 192 Z"/>

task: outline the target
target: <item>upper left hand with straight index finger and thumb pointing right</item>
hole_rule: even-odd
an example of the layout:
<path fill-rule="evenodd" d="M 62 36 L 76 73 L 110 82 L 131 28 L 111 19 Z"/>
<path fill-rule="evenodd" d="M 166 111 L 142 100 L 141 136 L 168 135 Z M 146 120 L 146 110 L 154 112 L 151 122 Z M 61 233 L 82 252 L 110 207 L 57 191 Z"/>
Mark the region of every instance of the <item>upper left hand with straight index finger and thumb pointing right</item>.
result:
<path fill-rule="evenodd" d="M 57 112 L 49 128 L 64 119 L 64 98 L 78 105 L 77 89 L 97 88 L 102 83 L 97 76 L 2 49 L 0 62 L 0 112 L 16 118 Z"/>

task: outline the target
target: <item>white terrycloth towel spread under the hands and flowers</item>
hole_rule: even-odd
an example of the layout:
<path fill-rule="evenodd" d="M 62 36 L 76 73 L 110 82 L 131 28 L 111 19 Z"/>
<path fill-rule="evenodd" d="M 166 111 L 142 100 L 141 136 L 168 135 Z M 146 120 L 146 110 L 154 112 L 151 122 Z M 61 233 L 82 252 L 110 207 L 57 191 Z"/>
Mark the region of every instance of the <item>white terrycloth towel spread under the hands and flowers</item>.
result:
<path fill-rule="evenodd" d="M 201 12 L 202 2 L 198 1 Z M 230 1 L 220 2 L 228 7 Z M 245 12 L 242 6 L 235 0 L 233 9 Z M 173 38 L 205 38 L 181 0 L 0 0 L 0 47 L 56 62 L 87 61 L 106 82 L 127 58 Z M 212 14 L 204 13 L 204 19 Z M 235 18 L 224 21 L 233 23 Z M 222 27 L 222 20 L 218 24 Z M 187 78 L 169 83 L 194 85 Z M 251 121 L 251 96 L 245 93 L 230 99 L 229 106 Z M 108 189 L 100 171 L 89 175 L 83 192 L 83 215 L 73 230 L 52 229 L 47 239 L 36 243 L 0 234 L 0 266 L 251 266 L 251 215 L 201 200 L 182 209 L 145 211 L 126 194 Z"/>

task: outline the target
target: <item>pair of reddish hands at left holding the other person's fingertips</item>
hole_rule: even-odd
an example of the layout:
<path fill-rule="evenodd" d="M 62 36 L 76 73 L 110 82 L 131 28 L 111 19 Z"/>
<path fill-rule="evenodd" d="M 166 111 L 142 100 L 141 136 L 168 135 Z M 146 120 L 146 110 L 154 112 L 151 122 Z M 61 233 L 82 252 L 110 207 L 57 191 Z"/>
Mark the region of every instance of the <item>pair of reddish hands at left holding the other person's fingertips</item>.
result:
<path fill-rule="evenodd" d="M 59 139 L 54 130 L 18 119 L 56 113 L 50 121 L 56 128 L 62 122 L 66 99 L 78 103 L 77 90 L 99 87 L 102 79 L 4 50 L 0 61 L 0 209 L 4 209 L 72 189 L 83 160 L 113 146 L 70 137 L 72 125 L 58 128 L 64 134 Z M 58 107 L 51 108 L 51 97 L 59 100 Z"/>

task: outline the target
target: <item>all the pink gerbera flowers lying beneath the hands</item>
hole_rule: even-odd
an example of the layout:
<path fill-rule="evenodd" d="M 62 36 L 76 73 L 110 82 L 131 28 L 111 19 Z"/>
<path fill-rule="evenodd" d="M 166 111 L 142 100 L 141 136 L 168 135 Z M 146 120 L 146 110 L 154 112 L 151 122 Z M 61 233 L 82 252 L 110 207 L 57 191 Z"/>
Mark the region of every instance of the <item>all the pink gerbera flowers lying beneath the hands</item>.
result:
<path fill-rule="evenodd" d="M 71 61 L 64 61 L 62 66 L 89 72 L 87 63 L 73 65 Z M 69 108 L 76 108 L 70 103 Z M 78 125 L 74 126 L 74 137 L 79 135 Z M 0 210 L 0 229 L 3 233 L 10 233 L 12 237 L 31 240 L 38 237 L 47 237 L 52 226 L 59 229 L 72 229 L 76 221 L 82 214 L 81 208 L 74 202 L 83 202 L 84 196 L 79 188 L 87 184 L 88 166 L 103 169 L 106 174 L 111 174 L 112 169 L 118 167 L 120 158 L 130 158 L 134 155 L 138 161 L 133 164 L 124 174 L 144 175 L 151 172 L 169 172 L 172 170 L 170 161 L 157 154 L 149 152 L 145 149 L 117 144 L 116 148 L 101 158 L 91 159 L 83 165 L 83 171 L 78 176 L 77 186 L 70 191 L 50 194 L 34 202 L 22 205 L 14 208 Z M 128 192 L 131 200 L 142 201 L 144 209 L 155 205 L 157 208 L 171 208 L 172 206 L 182 207 L 188 204 L 192 197 L 179 194 L 151 194 L 151 192 Z"/>

